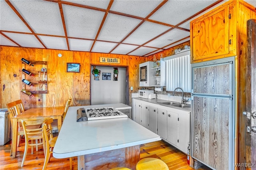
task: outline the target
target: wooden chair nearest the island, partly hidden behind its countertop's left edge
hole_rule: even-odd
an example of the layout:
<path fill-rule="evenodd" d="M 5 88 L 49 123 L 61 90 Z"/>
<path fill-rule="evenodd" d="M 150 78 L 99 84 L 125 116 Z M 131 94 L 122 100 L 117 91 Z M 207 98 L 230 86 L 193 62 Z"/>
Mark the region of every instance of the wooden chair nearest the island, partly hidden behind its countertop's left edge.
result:
<path fill-rule="evenodd" d="M 44 155 L 45 155 L 43 170 L 46 169 L 47 163 L 50 160 L 52 150 L 58 138 L 58 136 L 53 137 L 52 125 L 51 125 L 52 122 L 53 122 L 53 119 L 50 118 L 43 123 L 43 132 L 44 132 L 43 141 L 44 141 Z M 70 170 L 72 170 L 72 158 L 69 158 L 69 162 L 70 162 Z"/>

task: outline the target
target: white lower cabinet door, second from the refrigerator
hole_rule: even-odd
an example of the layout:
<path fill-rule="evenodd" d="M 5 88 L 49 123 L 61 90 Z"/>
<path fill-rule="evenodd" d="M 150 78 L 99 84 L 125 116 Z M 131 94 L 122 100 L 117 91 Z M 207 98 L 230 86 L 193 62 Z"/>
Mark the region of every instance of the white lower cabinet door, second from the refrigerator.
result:
<path fill-rule="evenodd" d="M 167 140 L 178 145 L 178 113 L 167 111 Z"/>

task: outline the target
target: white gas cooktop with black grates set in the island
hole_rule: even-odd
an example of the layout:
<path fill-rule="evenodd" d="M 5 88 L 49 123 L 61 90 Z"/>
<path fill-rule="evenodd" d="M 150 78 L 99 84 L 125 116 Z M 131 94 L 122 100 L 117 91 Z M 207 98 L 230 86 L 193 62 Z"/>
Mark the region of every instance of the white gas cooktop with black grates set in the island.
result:
<path fill-rule="evenodd" d="M 89 109 L 80 108 L 77 110 L 77 122 L 92 121 L 92 120 L 99 120 L 99 119 L 114 119 L 114 118 L 121 118 L 121 117 L 128 117 L 128 116 L 113 107 L 89 108 Z"/>

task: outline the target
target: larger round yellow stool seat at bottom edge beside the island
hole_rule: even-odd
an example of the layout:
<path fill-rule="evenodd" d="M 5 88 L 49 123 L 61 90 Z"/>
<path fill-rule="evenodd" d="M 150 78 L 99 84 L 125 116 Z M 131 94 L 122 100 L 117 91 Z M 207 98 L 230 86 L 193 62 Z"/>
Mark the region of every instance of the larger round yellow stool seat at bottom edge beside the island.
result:
<path fill-rule="evenodd" d="M 160 159 L 144 158 L 136 164 L 136 170 L 169 170 L 169 168 Z"/>

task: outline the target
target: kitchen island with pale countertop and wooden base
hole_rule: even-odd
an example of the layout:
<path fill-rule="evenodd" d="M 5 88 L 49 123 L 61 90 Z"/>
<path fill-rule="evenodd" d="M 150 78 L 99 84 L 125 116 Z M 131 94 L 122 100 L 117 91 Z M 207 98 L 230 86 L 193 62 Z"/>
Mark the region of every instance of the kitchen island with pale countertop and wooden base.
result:
<path fill-rule="evenodd" d="M 140 144 L 161 140 L 160 136 L 128 117 L 76 122 L 77 109 L 99 107 L 131 108 L 122 103 L 69 107 L 53 156 L 78 156 L 78 170 L 120 166 L 135 169 L 140 160 Z"/>

